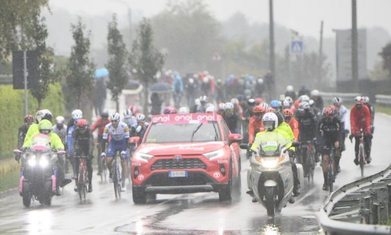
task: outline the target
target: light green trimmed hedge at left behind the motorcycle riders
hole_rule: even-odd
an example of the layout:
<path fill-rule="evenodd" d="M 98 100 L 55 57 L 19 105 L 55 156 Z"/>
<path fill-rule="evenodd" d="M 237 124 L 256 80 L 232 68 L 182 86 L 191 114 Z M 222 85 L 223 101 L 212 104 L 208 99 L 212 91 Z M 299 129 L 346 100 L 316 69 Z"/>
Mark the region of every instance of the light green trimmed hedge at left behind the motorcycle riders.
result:
<path fill-rule="evenodd" d="M 53 116 L 64 115 L 64 95 L 60 83 L 49 86 L 49 94 L 41 108 L 48 108 Z M 37 100 L 29 92 L 29 112 L 33 116 L 38 109 Z M 14 90 L 12 85 L 0 85 L 0 158 L 12 155 L 18 144 L 18 128 L 25 116 L 24 90 Z"/>

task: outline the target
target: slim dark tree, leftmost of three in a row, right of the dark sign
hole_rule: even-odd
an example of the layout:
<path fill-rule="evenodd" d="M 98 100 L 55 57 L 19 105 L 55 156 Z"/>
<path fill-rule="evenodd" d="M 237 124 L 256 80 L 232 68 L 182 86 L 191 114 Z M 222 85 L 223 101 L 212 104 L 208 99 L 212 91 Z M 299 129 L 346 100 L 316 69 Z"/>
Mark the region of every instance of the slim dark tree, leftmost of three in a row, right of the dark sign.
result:
<path fill-rule="evenodd" d="M 66 99 L 68 107 L 81 108 L 82 99 L 85 95 L 91 99 L 93 90 L 93 76 L 95 64 L 90 61 L 90 32 L 85 35 L 86 26 L 81 18 L 77 24 L 71 24 L 71 31 L 75 45 L 72 46 L 66 75 Z"/>

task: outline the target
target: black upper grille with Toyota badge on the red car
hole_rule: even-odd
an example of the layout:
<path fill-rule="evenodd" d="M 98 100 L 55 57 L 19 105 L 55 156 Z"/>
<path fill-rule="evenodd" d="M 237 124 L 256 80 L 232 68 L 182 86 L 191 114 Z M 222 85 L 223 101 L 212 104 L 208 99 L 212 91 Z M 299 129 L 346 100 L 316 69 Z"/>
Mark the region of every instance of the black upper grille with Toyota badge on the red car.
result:
<path fill-rule="evenodd" d="M 151 166 L 151 170 L 155 169 L 191 169 L 202 168 L 206 169 L 207 166 L 199 158 L 183 158 L 180 161 L 174 159 L 158 159 Z"/>

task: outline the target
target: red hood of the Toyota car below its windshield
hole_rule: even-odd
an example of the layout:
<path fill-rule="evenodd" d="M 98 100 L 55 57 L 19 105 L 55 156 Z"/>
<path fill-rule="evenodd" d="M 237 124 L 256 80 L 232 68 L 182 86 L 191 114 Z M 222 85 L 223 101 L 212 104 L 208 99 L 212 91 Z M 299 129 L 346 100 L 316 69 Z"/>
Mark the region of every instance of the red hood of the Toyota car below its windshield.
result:
<path fill-rule="evenodd" d="M 198 143 L 142 143 L 138 151 L 151 155 L 203 154 L 224 146 L 222 141 Z"/>

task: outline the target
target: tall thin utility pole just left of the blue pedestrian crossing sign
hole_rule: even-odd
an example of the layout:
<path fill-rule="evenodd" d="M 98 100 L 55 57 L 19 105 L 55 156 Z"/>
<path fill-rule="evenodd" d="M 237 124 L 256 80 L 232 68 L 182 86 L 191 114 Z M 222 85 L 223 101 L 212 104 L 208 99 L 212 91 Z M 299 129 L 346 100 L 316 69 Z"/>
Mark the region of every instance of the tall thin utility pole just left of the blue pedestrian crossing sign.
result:
<path fill-rule="evenodd" d="M 272 79 L 270 82 L 271 94 L 276 93 L 276 65 L 275 65 L 275 57 L 274 57 L 274 20 L 273 20 L 273 0 L 269 0 L 269 69 L 272 71 Z"/>

